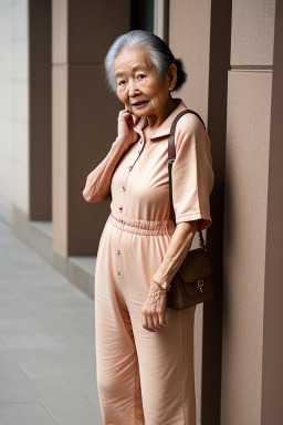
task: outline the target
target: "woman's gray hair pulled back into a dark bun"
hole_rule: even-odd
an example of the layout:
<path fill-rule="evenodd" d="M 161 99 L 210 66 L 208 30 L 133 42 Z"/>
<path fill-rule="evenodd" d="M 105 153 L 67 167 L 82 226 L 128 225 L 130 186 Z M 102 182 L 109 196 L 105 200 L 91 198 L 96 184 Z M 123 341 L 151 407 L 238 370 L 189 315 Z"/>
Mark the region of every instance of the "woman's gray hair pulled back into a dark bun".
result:
<path fill-rule="evenodd" d="M 114 61 L 117 55 L 125 49 L 132 46 L 145 48 L 155 64 L 158 75 L 164 77 L 171 63 L 177 66 L 177 82 L 172 91 L 180 89 L 187 81 L 187 73 L 184 70 L 181 59 L 175 59 L 169 46 L 157 35 L 143 30 L 128 31 L 118 35 L 111 45 L 104 59 L 104 72 L 106 85 L 109 91 L 116 92 L 116 79 L 114 75 Z"/>

